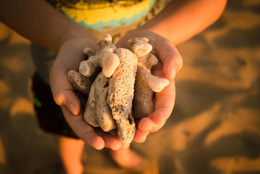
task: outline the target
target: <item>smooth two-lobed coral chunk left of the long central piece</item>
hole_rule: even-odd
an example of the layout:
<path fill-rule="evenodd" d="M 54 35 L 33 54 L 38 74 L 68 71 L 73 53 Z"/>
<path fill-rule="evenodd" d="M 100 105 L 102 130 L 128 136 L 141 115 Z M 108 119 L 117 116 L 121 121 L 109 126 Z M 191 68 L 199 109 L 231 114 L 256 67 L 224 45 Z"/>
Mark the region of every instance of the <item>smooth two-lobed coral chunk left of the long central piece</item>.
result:
<path fill-rule="evenodd" d="M 108 78 L 99 73 L 91 86 L 84 120 L 94 127 L 100 126 L 106 132 L 116 128 L 112 111 L 107 104 L 107 95 Z"/>

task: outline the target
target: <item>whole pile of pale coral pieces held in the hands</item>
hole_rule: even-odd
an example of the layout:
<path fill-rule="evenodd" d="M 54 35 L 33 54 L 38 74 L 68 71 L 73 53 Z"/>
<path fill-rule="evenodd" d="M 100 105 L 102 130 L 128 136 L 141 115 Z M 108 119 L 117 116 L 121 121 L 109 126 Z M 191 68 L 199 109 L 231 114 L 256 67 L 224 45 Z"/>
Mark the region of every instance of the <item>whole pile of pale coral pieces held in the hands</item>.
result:
<path fill-rule="evenodd" d="M 68 73 L 74 89 L 89 96 L 84 120 L 118 136 L 122 143 L 130 143 L 135 135 L 132 104 L 135 118 L 146 117 L 154 111 L 153 91 L 169 84 L 151 74 L 158 60 L 150 53 L 148 41 L 134 38 L 128 41 L 129 50 L 116 49 L 106 34 L 97 41 L 100 50 L 84 49 L 88 59 L 80 63 L 79 71 Z M 97 75 L 99 67 L 102 72 Z"/>

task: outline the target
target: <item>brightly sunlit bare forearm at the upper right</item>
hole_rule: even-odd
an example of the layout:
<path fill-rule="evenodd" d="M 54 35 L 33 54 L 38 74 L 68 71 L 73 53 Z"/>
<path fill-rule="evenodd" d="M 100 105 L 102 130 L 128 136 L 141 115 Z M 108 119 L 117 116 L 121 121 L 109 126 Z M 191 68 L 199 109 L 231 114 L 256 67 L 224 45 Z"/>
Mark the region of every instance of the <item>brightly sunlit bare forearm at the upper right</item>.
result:
<path fill-rule="evenodd" d="M 137 30 L 150 30 L 178 45 L 215 22 L 226 0 L 173 0 L 152 20 Z"/>

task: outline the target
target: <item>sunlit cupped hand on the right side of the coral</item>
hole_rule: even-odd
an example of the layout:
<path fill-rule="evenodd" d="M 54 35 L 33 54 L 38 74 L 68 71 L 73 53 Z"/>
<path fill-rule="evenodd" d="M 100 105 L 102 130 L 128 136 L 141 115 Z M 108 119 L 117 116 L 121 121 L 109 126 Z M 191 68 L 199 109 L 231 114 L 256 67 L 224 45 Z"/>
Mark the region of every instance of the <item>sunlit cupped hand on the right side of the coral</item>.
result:
<path fill-rule="evenodd" d="M 174 78 L 181 69 L 183 60 L 180 53 L 172 42 L 151 31 L 132 31 L 121 38 L 116 44 L 117 48 L 127 48 L 129 39 L 145 37 L 149 39 L 149 44 L 153 46 L 151 54 L 159 58 L 158 64 L 152 67 L 152 74 L 160 78 L 167 78 L 170 84 L 161 92 L 155 93 L 155 110 L 141 120 L 135 120 L 136 133 L 135 142 L 144 142 L 150 132 L 155 132 L 162 128 L 166 120 L 170 117 L 175 101 Z"/>

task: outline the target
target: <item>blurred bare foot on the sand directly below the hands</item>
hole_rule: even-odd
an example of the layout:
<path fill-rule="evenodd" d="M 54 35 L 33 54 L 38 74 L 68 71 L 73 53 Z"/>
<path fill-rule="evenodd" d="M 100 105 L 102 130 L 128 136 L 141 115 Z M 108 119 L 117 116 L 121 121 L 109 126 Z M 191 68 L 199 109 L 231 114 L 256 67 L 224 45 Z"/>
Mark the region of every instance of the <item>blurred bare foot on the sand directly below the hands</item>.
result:
<path fill-rule="evenodd" d="M 140 165 L 141 158 L 130 148 L 119 149 L 117 151 L 110 150 L 111 158 L 121 167 L 134 168 Z"/>

